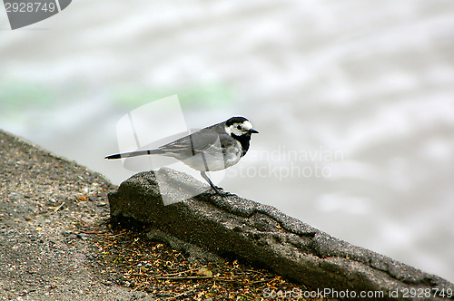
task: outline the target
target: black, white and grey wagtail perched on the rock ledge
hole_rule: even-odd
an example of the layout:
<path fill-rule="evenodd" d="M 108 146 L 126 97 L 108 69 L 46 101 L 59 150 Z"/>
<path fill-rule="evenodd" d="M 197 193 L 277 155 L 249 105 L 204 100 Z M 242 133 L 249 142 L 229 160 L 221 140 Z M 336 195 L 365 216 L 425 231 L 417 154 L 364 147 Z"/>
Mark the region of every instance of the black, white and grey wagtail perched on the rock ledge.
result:
<path fill-rule="evenodd" d="M 218 187 L 206 175 L 206 171 L 224 170 L 238 163 L 249 150 L 251 135 L 258 133 L 251 121 L 244 117 L 232 117 L 191 135 L 165 144 L 154 150 L 136 150 L 117 153 L 105 159 L 131 158 L 143 155 L 163 155 L 181 160 L 194 170 L 201 172 L 202 178 L 218 194 Z"/>

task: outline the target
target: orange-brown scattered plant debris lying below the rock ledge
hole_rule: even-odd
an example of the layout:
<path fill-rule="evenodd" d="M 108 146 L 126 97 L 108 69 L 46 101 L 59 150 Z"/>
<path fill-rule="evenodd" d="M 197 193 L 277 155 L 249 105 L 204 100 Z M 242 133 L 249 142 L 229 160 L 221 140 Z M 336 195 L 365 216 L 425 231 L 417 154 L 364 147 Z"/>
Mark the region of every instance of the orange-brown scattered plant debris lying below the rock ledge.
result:
<path fill-rule="evenodd" d="M 292 296 L 302 296 L 306 290 L 234 259 L 222 264 L 191 262 L 187 255 L 150 240 L 143 230 L 108 222 L 87 230 L 101 254 L 94 265 L 101 265 L 96 269 L 104 283 L 131 287 L 163 300 L 260 300 L 263 292 L 271 296 L 272 291 L 292 291 Z"/>

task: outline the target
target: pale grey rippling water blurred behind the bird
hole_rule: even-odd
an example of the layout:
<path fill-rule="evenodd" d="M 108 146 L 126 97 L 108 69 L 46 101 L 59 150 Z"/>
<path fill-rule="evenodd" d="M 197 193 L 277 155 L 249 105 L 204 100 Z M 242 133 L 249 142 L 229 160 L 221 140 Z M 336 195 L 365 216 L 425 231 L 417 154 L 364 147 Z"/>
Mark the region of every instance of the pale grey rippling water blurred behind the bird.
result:
<path fill-rule="evenodd" d="M 15 31 L 0 7 L 1 129 L 119 183 L 116 122 L 173 94 L 260 131 L 224 189 L 454 281 L 454 2 L 77 0 Z"/>

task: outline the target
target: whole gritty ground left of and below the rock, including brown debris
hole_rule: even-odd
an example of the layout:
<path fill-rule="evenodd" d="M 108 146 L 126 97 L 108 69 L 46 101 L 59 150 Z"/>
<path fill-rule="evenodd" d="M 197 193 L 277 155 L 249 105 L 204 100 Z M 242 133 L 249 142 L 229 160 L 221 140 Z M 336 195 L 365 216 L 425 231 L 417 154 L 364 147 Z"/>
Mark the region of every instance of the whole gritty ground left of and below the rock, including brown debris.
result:
<path fill-rule="evenodd" d="M 290 291 L 303 300 L 305 287 L 265 270 L 192 262 L 143 228 L 111 221 L 113 189 L 0 131 L 0 300 L 272 300 Z"/>

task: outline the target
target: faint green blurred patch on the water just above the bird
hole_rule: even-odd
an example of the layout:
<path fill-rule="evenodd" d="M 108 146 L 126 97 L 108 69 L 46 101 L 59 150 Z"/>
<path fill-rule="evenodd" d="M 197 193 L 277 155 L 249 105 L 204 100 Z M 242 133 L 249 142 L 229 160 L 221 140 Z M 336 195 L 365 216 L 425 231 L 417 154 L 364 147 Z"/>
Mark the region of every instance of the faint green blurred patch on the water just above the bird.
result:
<path fill-rule="evenodd" d="M 221 84 L 200 84 L 173 88 L 123 87 L 114 91 L 114 105 L 122 110 L 133 110 L 141 105 L 177 94 L 183 109 L 202 105 L 208 108 L 222 107 L 236 97 L 232 88 Z"/>

